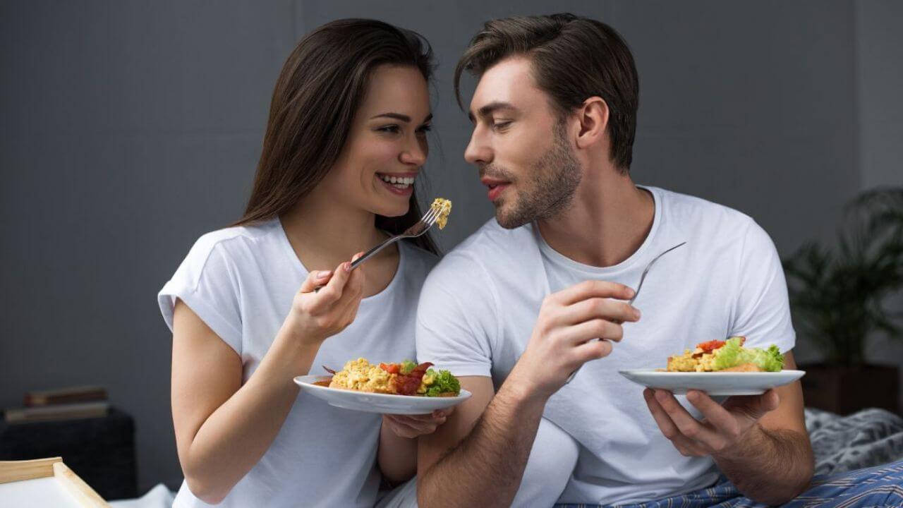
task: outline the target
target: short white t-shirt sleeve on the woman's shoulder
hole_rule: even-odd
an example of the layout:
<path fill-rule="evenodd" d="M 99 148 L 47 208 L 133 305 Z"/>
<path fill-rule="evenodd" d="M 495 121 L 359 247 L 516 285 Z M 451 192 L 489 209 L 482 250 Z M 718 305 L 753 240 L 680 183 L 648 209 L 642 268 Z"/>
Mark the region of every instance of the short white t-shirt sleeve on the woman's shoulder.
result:
<path fill-rule="evenodd" d="M 234 266 L 219 243 L 206 235 L 198 240 L 182 265 L 157 295 L 163 320 L 172 330 L 176 298 L 241 354 L 241 309 Z"/>

